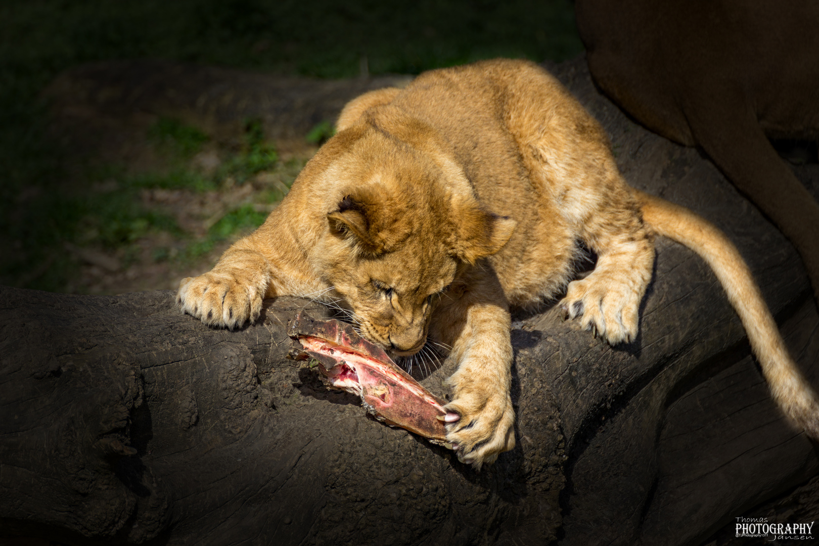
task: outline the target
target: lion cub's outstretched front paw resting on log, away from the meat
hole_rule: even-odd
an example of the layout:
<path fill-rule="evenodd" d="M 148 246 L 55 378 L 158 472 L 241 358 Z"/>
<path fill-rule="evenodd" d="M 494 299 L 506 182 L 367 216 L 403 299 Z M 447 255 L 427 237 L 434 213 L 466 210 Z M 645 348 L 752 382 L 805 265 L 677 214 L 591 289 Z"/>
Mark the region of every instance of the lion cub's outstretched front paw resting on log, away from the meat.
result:
<path fill-rule="evenodd" d="M 208 326 L 233 329 L 249 319 L 259 318 L 264 294 L 238 275 L 211 271 L 179 282 L 176 302 L 183 313 L 201 319 Z"/>

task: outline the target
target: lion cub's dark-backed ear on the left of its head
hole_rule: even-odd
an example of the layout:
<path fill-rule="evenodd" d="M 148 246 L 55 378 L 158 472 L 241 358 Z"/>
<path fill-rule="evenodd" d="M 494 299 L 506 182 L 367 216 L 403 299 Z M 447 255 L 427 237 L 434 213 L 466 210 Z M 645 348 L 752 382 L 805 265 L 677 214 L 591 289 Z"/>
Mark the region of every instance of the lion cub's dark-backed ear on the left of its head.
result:
<path fill-rule="evenodd" d="M 351 237 L 366 255 L 394 250 L 409 237 L 410 225 L 400 206 L 379 196 L 345 196 L 338 210 L 327 215 L 330 228 Z"/>

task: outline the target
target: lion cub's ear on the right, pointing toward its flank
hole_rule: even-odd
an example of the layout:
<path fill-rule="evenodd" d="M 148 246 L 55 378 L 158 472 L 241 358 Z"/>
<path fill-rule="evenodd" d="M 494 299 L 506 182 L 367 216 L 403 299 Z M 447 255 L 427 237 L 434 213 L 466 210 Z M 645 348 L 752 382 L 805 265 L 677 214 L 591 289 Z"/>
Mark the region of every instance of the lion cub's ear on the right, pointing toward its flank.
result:
<path fill-rule="evenodd" d="M 474 264 L 493 255 L 512 237 L 518 223 L 508 216 L 498 216 L 480 208 L 477 203 L 455 210 L 455 241 L 452 252 L 459 259 Z"/>

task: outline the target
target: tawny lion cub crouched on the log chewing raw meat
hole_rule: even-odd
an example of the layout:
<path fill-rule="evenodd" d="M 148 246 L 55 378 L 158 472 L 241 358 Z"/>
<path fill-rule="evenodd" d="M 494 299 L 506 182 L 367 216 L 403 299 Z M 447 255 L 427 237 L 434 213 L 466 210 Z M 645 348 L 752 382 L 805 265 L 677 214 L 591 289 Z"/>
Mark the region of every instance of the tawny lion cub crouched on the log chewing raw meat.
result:
<path fill-rule="evenodd" d="M 509 307 L 565 288 L 570 318 L 631 341 L 663 234 L 715 268 L 776 400 L 819 433 L 819 405 L 731 243 L 628 187 L 603 129 L 537 65 L 432 70 L 356 98 L 337 125 L 265 223 L 183 279 L 184 312 L 233 328 L 258 318 L 263 298 L 319 294 L 392 354 L 428 338 L 451 347 L 447 440 L 480 467 L 515 443 Z M 599 259 L 569 282 L 578 241 Z"/>

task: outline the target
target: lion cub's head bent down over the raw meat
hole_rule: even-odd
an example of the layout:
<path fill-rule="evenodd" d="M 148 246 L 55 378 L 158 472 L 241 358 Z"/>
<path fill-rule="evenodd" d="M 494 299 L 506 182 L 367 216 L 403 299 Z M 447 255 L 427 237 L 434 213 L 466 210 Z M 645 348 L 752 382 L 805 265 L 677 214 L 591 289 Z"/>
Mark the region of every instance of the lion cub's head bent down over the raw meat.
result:
<path fill-rule="evenodd" d="M 426 341 L 438 296 L 500 250 L 515 223 L 478 203 L 432 129 L 377 110 L 337 134 L 319 159 L 324 168 L 314 188 L 328 199 L 317 250 L 320 274 L 362 335 L 407 355 Z"/>

